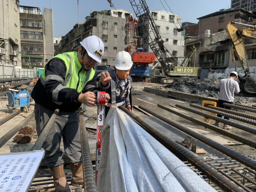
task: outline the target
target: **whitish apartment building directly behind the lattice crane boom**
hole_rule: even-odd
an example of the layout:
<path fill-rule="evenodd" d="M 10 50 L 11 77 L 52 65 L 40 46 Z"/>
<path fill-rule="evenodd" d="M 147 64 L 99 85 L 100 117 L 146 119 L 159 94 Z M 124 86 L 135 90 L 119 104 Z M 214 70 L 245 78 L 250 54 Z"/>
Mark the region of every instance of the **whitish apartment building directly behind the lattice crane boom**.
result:
<path fill-rule="evenodd" d="M 164 40 L 164 46 L 167 49 L 167 56 L 170 58 L 170 62 L 177 64 L 184 60 L 184 35 L 182 32 L 178 32 L 178 28 L 181 28 L 181 18 L 177 15 L 173 15 L 167 11 L 150 11 L 156 27 L 160 33 L 161 38 Z M 142 47 L 145 51 L 153 52 L 149 45 L 149 38 L 154 39 L 155 35 L 152 29 L 149 29 L 149 20 L 145 20 L 145 25 L 142 20 L 143 15 L 139 17 L 138 33 L 142 38 Z M 145 35 L 144 30 L 149 31 L 150 35 Z M 169 54 L 170 53 L 170 54 Z"/>

